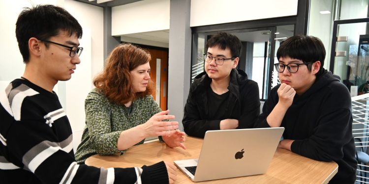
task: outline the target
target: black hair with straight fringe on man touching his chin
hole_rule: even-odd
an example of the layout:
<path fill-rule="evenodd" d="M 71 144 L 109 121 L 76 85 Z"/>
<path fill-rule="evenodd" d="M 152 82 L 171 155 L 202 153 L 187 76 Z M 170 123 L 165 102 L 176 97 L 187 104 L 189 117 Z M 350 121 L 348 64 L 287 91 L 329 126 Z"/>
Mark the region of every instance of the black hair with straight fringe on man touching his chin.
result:
<path fill-rule="evenodd" d="M 325 59 L 325 48 L 322 41 L 314 36 L 297 35 L 291 36 L 280 44 L 277 50 L 277 59 L 290 57 L 302 60 L 304 63 L 320 61 L 320 73 L 323 70 Z M 307 68 L 311 71 L 312 64 Z"/>

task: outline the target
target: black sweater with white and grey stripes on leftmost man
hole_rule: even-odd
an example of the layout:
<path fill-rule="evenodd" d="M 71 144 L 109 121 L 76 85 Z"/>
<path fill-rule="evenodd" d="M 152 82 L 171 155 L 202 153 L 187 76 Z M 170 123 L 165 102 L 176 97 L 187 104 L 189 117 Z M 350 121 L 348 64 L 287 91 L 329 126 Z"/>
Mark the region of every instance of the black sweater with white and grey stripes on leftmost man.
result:
<path fill-rule="evenodd" d="M 164 162 L 142 168 L 96 168 L 77 164 L 72 130 L 55 93 L 26 79 L 0 92 L 1 184 L 164 184 Z"/>

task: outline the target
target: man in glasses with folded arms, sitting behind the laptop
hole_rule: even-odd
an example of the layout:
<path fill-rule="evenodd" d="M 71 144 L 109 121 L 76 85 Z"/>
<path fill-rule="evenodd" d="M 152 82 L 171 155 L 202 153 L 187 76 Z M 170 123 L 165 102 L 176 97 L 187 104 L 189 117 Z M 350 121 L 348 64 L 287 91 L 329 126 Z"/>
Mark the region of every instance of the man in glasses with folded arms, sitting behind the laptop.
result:
<path fill-rule="evenodd" d="M 205 72 L 191 84 L 184 106 L 184 131 L 204 137 L 208 130 L 252 128 L 259 113 L 259 88 L 236 69 L 242 43 L 232 34 L 218 33 L 206 45 Z"/>

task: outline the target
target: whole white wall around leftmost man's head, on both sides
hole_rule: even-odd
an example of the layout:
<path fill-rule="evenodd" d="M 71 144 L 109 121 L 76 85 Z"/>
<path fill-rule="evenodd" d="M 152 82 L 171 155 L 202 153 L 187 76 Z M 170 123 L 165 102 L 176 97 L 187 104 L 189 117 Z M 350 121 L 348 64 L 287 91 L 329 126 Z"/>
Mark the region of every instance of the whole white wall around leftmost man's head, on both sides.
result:
<path fill-rule="evenodd" d="M 72 79 L 59 82 L 54 91 L 71 123 L 74 147 L 81 140 L 85 125 L 85 98 L 92 89 L 92 78 L 103 68 L 103 9 L 74 0 L 0 0 L 0 87 L 23 75 L 25 64 L 15 37 L 15 23 L 23 7 L 37 4 L 54 4 L 64 7 L 81 24 L 84 34 L 80 40 L 84 51 Z"/>

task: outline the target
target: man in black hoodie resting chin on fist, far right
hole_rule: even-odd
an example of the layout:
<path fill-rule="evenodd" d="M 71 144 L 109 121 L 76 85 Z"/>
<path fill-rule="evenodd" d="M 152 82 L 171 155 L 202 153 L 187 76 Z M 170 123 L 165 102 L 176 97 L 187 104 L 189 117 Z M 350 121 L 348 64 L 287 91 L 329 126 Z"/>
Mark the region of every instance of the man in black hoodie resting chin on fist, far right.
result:
<path fill-rule="evenodd" d="M 275 64 L 280 85 L 263 106 L 256 128 L 284 127 L 278 147 L 320 161 L 335 161 L 330 183 L 353 184 L 357 162 L 348 89 L 323 68 L 325 49 L 313 36 L 284 41 Z"/>

